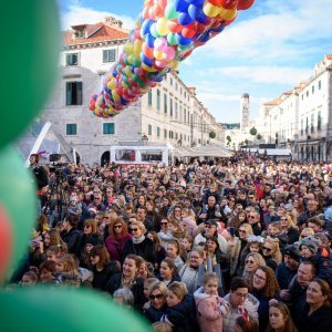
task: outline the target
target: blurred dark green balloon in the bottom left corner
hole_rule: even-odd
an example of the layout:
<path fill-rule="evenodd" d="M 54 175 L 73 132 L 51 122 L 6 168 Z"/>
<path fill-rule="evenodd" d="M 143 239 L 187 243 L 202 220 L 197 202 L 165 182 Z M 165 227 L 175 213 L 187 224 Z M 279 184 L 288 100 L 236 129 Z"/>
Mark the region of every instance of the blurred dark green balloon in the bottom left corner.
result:
<path fill-rule="evenodd" d="M 15 289 L 1 292 L 0 303 L 3 331 L 152 331 L 132 309 L 121 308 L 111 298 L 83 289 Z"/>

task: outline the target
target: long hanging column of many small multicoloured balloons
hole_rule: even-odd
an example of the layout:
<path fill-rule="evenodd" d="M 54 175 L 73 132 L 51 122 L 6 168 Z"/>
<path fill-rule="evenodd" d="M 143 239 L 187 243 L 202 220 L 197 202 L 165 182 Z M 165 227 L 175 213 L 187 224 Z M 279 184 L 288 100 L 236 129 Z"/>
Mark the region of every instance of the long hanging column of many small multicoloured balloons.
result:
<path fill-rule="evenodd" d="M 162 82 L 195 48 L 220 33 L 255 0 L 145 0 L 135 29 L 105 74 L 90 110 L 112 117 Z"/>

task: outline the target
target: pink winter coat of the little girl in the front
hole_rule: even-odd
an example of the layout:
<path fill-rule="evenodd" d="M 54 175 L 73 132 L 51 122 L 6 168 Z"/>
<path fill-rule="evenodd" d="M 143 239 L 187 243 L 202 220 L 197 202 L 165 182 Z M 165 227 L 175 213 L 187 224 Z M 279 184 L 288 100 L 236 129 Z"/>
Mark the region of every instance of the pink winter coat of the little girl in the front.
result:
<path fill-rule="evenodd" d="M 196 290 L 194 298 L 200 332 L 221 332 L 224 315 L 222 307 L 228 307 L 225 300 L 218 295 L 205 293 L 203 287 Z"/>

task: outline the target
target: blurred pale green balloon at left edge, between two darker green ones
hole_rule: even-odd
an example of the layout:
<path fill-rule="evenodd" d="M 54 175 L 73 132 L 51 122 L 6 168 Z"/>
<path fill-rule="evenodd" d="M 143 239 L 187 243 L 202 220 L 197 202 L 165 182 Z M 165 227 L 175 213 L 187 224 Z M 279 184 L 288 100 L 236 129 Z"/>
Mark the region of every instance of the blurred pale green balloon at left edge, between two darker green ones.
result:
<path fill-rule="evenodd" d="M 37 221 L 37 188 L 32 173 L 10 146 L 0 151 L 0 205 L 12 227 L 13 251 L 9 267 L 9 272 L 12 272 L 27 251 Z"/>

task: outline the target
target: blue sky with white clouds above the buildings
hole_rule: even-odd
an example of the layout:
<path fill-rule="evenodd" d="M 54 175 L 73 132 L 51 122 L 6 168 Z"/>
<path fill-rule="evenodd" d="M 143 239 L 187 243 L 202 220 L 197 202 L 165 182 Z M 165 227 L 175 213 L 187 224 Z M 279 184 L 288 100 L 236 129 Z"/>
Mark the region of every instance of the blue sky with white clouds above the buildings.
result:
<path fill-rule="evenodd" d="M 113 15 L 133 29 L 144 0 L 58 0 L 62 29 Z M 157 1 L 157 0 L 156 0 Z M 260 106 L 308 80 L 332 54 L 331 0 L 256 0 L 220 34 L 179 65 L 199 101 L 221 123 L 240 121 L 240 97 L 250 96 L 250 118 Z"/>

